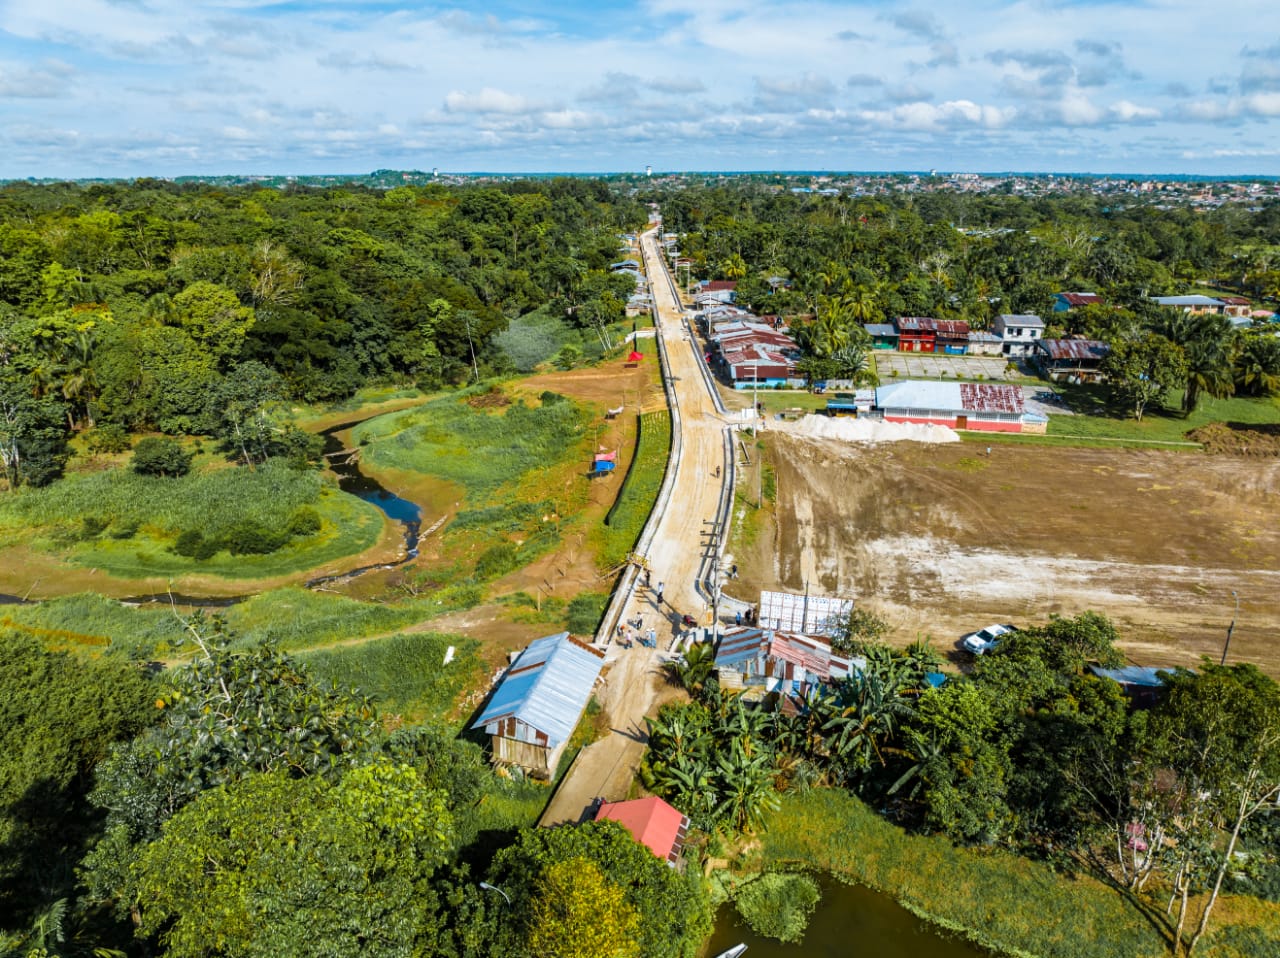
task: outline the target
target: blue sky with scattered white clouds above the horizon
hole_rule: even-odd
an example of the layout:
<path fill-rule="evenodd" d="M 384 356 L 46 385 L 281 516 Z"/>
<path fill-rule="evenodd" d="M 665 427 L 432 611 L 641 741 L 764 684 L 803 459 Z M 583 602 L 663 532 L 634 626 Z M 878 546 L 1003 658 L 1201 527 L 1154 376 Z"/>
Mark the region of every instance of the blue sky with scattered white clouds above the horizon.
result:
<path fill-rule="evenodd" d="M 1280 174 L 1276 0 L 0 0 L 0 177 Z"/>

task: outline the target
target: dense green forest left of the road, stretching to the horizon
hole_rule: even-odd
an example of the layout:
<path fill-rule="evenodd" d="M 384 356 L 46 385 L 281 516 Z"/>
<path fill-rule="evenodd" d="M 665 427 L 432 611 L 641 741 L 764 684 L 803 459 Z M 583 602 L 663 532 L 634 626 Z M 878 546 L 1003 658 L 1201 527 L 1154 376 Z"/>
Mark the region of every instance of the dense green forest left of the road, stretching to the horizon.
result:
<path fill-rule="evenodd" d="M 246 459 L 305 453 L 296 430 L 268 423 L 273 403 L 529 368 L 550 359 L 540 348 L 572 346 L 575 328 L 622 319 L 632 283 L 607 266 L 620 232 L 644 222 L 582 179 L 5 186 L 5 478 L 47 483 L 68 433 L 86 429 L 106 444 L 155 429 L 215 435 Z"/>

